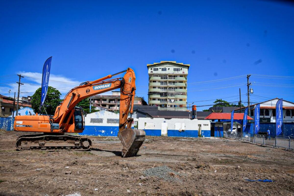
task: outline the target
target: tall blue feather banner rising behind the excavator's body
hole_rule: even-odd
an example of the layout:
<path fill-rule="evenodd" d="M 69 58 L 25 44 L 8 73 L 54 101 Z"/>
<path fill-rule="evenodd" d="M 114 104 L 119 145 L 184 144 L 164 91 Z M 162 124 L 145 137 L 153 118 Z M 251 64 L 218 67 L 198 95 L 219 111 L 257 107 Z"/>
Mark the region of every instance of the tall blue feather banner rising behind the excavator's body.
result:
<path fill-rule="evenodd" d="M 42 75 L 42 90 L 41 90 L 41 105 L 40 105 L 40 110 L 41 110 L 41 106 L 44 104 L 45 99 L 46 99 L 46 95 L 47 95 L 47 91 L 48 91 L 48 84 L 49 84 L 49 76 L 50 76 L 50 68 L 51 68 L 51 60 L 52 60 L 52 56 L 49 57 L 43 66 L 43 75 Z"/>

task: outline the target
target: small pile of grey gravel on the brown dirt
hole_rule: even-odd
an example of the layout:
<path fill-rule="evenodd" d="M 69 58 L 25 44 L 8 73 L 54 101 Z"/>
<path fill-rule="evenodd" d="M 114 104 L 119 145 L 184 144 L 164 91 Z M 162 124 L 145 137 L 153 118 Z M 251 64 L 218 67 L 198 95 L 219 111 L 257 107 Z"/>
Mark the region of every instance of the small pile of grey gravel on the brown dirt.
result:
<path fill-rule="evenodd" d="M 171 170 L 165 165 L 145 170 L 143 171 L 143 173 L 146 176 L 156 176 L 168 181 L 179 180 L 178 178 L 176 178 L 176 175 L 180 175 L 178 172 Z"/>

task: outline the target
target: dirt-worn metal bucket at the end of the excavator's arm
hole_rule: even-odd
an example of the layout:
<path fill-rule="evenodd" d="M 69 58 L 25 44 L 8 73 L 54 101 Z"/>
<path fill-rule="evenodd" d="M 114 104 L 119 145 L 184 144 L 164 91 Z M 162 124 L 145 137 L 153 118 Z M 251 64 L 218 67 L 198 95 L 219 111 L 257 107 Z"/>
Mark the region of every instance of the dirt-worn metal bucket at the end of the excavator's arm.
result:
<path fill-rule="evenodd" d="M 118 138 L 123 144 L 121 154 L 123 157 L 136 156 L 145 140 L 145 131 L 138 129 L 124 129 L 118 132 Z"/>

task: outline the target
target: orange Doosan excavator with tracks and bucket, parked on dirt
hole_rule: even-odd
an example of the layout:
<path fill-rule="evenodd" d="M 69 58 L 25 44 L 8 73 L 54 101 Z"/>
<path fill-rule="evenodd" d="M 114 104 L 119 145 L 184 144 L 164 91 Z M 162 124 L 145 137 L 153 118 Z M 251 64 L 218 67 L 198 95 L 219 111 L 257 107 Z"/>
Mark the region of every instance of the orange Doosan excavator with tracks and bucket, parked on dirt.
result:
<path fill-rule="evenodd" d="M 111 79 L 126 72 L 123 78 Z M 95 81 L 87 81 L 71 89 L 55 110 L 54 116 L 16 116 L 15 131 L 40 132 L 42 134 L 22 135 L 16 140 L 18 150 L 89 150 L 92 142 L 88 138 L 65 133 L 82 133 L 85 116 L 82 108 L 76 105 L 83 99 L 120 88 L 120 113 L 118 138 L 123 145 L 122 156 L 135 156 L 143 141 L 145 131 L 131 129 L 135 96 L 135 73 L 131 68 L 108 75 Z"/>

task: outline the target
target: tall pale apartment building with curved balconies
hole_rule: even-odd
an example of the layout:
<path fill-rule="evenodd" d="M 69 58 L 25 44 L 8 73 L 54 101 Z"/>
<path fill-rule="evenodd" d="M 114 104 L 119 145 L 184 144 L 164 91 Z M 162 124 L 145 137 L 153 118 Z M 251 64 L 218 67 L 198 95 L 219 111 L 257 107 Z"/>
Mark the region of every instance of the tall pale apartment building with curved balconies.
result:
<path fill-rule="evenodd" d="M 176 61 L 147 64 L 148 105 L 175 110 L 187 109 L 187 76 L 190 65 Z"/>

